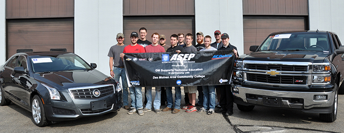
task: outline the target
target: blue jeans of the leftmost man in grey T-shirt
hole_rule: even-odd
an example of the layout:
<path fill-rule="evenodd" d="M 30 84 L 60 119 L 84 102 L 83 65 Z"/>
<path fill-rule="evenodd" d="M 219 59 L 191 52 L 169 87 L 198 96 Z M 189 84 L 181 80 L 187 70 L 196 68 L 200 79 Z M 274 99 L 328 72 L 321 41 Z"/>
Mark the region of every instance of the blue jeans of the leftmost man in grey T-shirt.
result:
<path fill-rule="evenodd" d="M 125 69 L 124 68 L 119 68 L 119 67 L 114 67 L 114 74 L 115 80 L 119 81 L 119 77 L 122 79 L 122 90 L 123 90 L 123 106 L 128 106 L 129 102 L 128 102 L 128 83 L 127 83 L 127 77 L 125 76 Z"/>

